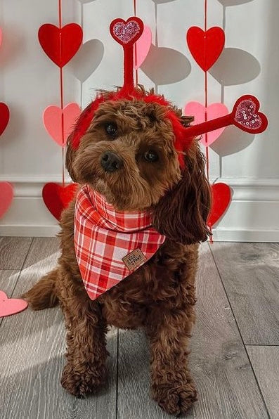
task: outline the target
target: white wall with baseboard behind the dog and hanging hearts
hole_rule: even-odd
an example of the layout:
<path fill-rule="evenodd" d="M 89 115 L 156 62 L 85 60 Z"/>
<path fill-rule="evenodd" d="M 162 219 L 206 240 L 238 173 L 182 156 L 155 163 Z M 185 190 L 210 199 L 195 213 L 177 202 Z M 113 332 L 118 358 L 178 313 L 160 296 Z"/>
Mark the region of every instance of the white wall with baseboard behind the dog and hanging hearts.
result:
<path fill-rule="evenodd" d="M 179 51 L 173 56 L 164 50 L 161 60 L 162 50 L 153 49 L 145 72 L 138 72 L 139 82 L 156 86 L 181 107 L 204 97 L 203 72 L 185 41 L 188 27 L 203 27 L 203 6 L 204 0 L 137 1 L 137 14 L 152 28 L 153 43 L 157 15 L 158 47 Z M 212 181 L 233 188 L 233 202 L 214 238 L 279 241 L 279 1 L 208 0 L 208 9 L 208 26 L 226 31 L 226 50 L 210 70 L 209 103 L 224 100 L 231 109 L 242 94 L 254 94 L 269 119 L 268 130 L 256 137 L 226 129 L 210 150 Z M 84 107 L 93 89 L 122 84 L 122 51 L 108 27 L 113 18 L 130 15 L 133 0 L 63 1 L 63 23 L 82 24 L 84 43 L 98 40 L 86 44 L 64 67 L 65 103 L 82 102 Z M 44 108 L 59 105 L 58 67 L 37 41 L 37 30 L 45 22 L 58 25 L 58 0 L 1 1 L 0 101 L 9 105 L 11 120 L 0 138 L 0 181 L 15 187 L 13 204 L 0 220 L 2 236 L 51 236 L 58 231 L 41 200 L 44 183 L 61 181 L 62 172 L 61 149 L 41 123 Z"/>

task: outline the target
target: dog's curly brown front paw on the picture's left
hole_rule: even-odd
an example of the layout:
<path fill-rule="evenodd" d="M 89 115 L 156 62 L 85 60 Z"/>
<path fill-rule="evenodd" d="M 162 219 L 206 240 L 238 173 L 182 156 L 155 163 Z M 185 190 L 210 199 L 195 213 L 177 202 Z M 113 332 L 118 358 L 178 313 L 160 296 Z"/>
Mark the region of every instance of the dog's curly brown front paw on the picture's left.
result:
<path fill-rule="evenodd" d="M 84 370 L 84 368 L 79 368 L 78 370 L 77 368 L 73 369 L 67 363 L 63 369 L 61 385 L 70 394 L 79 399 L 84 399 L 86 395 L 96 392 L 103 385 L 104 381 L 105 368 L 97 371 L 93 370 L 91 366 L 90 370 Z"/>

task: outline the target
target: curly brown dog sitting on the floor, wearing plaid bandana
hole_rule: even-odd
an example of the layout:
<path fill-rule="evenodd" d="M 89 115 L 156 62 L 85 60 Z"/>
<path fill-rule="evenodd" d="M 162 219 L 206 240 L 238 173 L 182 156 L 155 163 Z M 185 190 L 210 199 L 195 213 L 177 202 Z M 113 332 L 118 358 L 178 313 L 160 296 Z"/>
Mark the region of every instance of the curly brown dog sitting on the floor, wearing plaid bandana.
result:
<path fill-rule="evenodd" d="M 24 297 L 34 310 L 58 302 L 63 310 L 67 364 L 61 383 L 68 392 L 85 397 L 104 382 L 108 325 L 144 327 L 150 339 L 153 398 L 168 413 L 179 414 L 196 400 L 188 341 L 195 322 L 198 243 L 209 235 L 211 193 L 197 141 L 192 141 L 180 168 L 174 131 L 165 117 L 169 109 L 184 126 L 192 120 L 160 103 L 103 101 L 77 150 L 72 137 L 68 139 L 66 157 L 72 179 L 94 188 L 115 209 L 150 211 L 154 228 L 167 236 L 164 244 L 143 266 L 92 301 L 74 252 L 73 200 L 60 221 L 57 268 Z M 108 150 L 122 161 L 112 171 L 101 165 Z"/>

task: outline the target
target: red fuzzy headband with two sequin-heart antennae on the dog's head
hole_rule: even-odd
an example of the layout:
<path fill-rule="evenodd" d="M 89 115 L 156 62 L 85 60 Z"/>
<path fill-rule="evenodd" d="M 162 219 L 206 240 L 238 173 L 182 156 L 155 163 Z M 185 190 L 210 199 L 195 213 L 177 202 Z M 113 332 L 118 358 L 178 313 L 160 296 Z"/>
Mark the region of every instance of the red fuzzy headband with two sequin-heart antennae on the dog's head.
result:
<path fill-rule="evenodd" d="M 145 103 L 158 103 L 160 105 L 169 107 L 171 103 L 164 99 L 164 96 L 155 94 L 145 94 L 139 92 L 134 87 L 134 66 L 133 66 L 133 49 L 136 41 L 143 33 L 143 21 L 136 16 L 132 16 L 128 20 L 117 18 L 110 23 L 110 33 L 112 37 L 123 47 L 124 52 L 124 84 L 122 89 L 117 92 L 112 92 L 104 96 L 99 94 L 95 101 L 90 103 L 89 106 L 82 112 L 76 127 L 74 128 L 72 147 L 77 149 L 79 146 L 80 138 L 86 134 L 87 129 L 91 124 L 93 115 L 98 109 L 100 103 L 104 101 L 117 101 L 126 98 L 127 100 L 138 99 Z M 166 117 L 171 122 L 175 141 L 174 146 L 179 152 L 179 162 L 183 167 L 183 157 L 181 152 L 187 150 L 191 141 L 196 136 L 200 136 L 215 129 L 227 127 L 228 125 L 235 125 L 242 131 L 249 132 L 250 134 L 259 134 L 265 131 L 268 126 L 266 115 L 259 112 L 259 101 L 252 95 L 241 96 L 236 101 L 233 112 L 224 117 L 216 118 L 203 122 L 202 124 L 193 125 L 190 127 L 183 127 L 181 120 L 172 110 L 167 110 Z"/>

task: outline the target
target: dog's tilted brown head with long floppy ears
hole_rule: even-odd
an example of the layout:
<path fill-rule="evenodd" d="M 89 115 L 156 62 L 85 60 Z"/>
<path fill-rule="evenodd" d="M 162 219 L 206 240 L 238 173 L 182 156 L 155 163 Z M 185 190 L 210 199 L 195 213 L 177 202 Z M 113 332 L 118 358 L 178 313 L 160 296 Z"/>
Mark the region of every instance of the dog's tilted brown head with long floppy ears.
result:
<path fill-rule="evenodd" d="M 78 146 L 75 132 L 68 138 L 70 176 L 89 184 L 115 209 L 150 211 L 157 231 L 172 240 L 206 240 L 210 188 L 205 160 L 197 141 L 181 154 L 175 135 L 174 119 L 184 126 L 191 119 L 160 100 L 148 101 L 152 93 L 117 100 L 110 95 L 98 103 Z"/>

